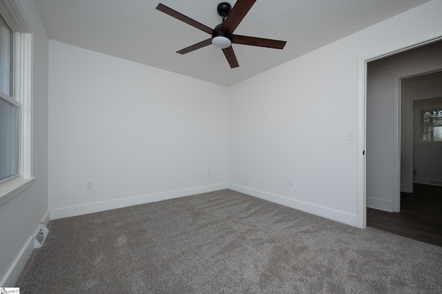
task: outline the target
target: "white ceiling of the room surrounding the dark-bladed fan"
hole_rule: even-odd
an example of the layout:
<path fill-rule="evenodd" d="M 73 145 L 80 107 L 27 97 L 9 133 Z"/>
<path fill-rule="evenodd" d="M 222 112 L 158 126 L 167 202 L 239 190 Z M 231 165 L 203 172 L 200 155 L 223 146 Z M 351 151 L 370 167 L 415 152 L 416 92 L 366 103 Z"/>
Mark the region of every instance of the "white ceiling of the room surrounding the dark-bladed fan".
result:
<path fill-rule="evenodd" d="M 257 0 L 236 35 L 287 41 L 283 50 L 233 44 L 177 50 L 210 35 L 155 9 L 163 3 L 211 28 L 221 0 L 35 0 L 49 39 L 231 86 L 429 0 Z M 236 1 L 227 1 L 233 6 Z"/>

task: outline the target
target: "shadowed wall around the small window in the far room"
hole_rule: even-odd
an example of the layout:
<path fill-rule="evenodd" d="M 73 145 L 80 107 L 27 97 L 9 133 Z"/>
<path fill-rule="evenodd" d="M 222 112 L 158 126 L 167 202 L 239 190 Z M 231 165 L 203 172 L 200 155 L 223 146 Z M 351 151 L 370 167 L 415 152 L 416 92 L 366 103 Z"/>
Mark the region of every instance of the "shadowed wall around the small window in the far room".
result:
<path fill-rule="evenodd" d="M 425 89 L 433 89 L 438 98 L 423 99 L 414 101 L 414 148 L 413 148 L 413 168 L 416 170 L 414 175 L 414 183 L 418 184 L 439 184 L 442 183 L 442 143 L 438 144 L 421 144 L 421 124 L 420 115 L 422 110 L 431 108 L 442 109 L 442 79 L 434 79 L 437 81 L 434 85 L 427 85 Z M 432 84 L 431 81 L 423 84 Z M 409 85 L 414 86 L 414 85 Z M 430 91 L 425 91 L 430 92 Z M 437 93 L 436 93 L 437 92 Z M 431 96 L 436 96 L 431 95 Z M 430 96 L 426 96 L 430 97 Z"/>

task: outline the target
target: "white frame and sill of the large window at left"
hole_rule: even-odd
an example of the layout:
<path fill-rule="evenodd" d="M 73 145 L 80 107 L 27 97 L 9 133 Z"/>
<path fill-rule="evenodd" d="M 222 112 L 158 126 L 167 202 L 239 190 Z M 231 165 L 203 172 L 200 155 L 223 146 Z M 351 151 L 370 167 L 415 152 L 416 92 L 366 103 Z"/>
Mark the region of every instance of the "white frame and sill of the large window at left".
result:
<path fill-rule="evenodd" d="M 19 175 L 0 184 L 0 205 L 32 185 L 32 53 L 30 25 L 16 0 L 1 0 L 0 13 L 14 34 L 12 99 L 20 104 Z M 9 101 L 9 100 L 8 100 Z"/>

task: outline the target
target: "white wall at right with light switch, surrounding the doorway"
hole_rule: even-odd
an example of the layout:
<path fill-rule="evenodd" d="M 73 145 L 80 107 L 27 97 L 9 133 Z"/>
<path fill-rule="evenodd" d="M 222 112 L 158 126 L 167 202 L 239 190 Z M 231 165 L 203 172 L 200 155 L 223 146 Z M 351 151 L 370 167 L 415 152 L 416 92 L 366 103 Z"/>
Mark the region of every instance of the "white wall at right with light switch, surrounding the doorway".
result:
<path fill-rule="evenodd" d="M 358 59 L 441 34 L 441 10 L 430 1 L 232 86 L 231 188 L 356 225 Z"/>

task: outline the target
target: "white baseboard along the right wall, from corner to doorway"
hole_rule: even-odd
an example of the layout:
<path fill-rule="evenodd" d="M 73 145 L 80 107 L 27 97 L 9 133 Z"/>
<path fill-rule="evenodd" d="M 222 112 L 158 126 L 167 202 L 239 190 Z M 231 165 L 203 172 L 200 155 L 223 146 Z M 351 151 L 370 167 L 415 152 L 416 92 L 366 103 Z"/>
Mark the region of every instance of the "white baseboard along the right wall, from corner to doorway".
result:
<path fill-rule="evenodd" d="M 344 224 L 349 224 L 350 226 L 357 226 L 356 215 L 351 215 L 349 213 L 344 213 L 342 211 L 326 208 L 323 206 L 318 206 L 316 204 L 310 204 L 307 202 L 301 202 L 295 199 L 287 198 L 280 195 L 275 195 L 267 193 L 261 190 L 256 190 L 252 188 L 247 188 L 237 184 L 229 184 L 229 189 L 236 190 L 238 192 L 265 199 L 269 202 L 281 204 L 291 208 L 305 211 L 306 213 L 311 213 L 313 215 L 318 215 L 320 217 L 325 217 L 327 219 L 332 219 L 336 222 L 342 222 Z"/>

